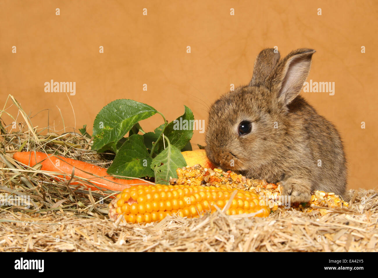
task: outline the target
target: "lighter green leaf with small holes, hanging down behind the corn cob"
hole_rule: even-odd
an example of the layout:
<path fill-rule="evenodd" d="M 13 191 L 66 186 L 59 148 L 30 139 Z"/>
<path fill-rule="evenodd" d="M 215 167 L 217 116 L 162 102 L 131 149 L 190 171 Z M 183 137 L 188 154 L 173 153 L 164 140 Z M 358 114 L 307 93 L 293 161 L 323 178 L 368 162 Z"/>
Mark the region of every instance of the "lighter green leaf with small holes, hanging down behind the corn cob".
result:
<path fill-rule="evenodd" d="M 155 173 L 155 183 L 168 184 L 169 177 L 177 178 L 176 169 L 184 166 L 186 162 L 180 149 L 167 142 L 166 149 L 152 160 L 151 169 Z"/>

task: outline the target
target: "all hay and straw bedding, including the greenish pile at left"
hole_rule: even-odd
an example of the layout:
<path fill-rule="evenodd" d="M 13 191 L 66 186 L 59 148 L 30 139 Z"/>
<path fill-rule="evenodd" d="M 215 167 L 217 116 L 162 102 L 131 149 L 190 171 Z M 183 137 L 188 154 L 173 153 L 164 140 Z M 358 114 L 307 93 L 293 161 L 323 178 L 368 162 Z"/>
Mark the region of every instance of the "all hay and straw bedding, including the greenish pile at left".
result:
<path fill-rule="evenodd" d="M 90 150 L 77 133 L 41 135 L 30 118 L 18 132 L 0 135 L 0 196 L 29 196 L 23 205 L 0 206 L 0 252 L 82 251 L 375 251 L 378 191 L 350 190 L 350 208 L 302 213 L 278 209 L 268 218 L 226 216 L 221 211 L 195 219 L 178 216 L 147 225 L 108 219 L 109 198 L 99 191 L 67 186 L 51 174 L 24 169 L 12 159 L 19 150 L 64 155 L 108 167 L 111 160 Z M 1 113 L 0 113 L 1 116 Z M 9 129 L 1 125 L 2 133 Z M 30 130 L 33 128 L 33 130 Z M 25 131 L 22 131 L 25 130 Z M 31 132 L 33 131 L 33 132 Z"/>

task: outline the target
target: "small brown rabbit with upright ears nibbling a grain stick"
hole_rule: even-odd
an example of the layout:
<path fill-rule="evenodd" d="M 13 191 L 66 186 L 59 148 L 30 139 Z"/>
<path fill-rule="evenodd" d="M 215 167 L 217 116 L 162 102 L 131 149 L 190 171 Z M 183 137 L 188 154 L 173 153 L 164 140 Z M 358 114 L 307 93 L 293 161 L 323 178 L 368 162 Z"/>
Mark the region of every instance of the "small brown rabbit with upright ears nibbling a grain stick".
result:
<path fill-rule="evenodd" d="M 223 170 L 281 182 L 291 203 L 307 202 L 311 190 L 343 196 L 346 161 L 340 136 L 299 93 L 312 49 L 280 60 L 274 49 L 257 56 L 249 85 L 226 93 L 209 111 L 206 154 Z"/>

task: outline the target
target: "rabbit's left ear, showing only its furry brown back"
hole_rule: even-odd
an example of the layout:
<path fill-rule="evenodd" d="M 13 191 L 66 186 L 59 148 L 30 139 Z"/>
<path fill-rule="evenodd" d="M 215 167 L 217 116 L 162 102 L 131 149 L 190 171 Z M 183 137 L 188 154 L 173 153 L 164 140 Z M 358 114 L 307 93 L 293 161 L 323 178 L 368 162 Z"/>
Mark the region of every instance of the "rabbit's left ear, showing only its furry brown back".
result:
<path fill-rule="evenodd" d="M 280 59 L 278 50 L 274 52 L 274 48 L 265 48 L 257 55 L 255 65 L 253 67 L 253 76 L 249 86 L 259 86 L 264 83 L 265 79 L 270 75 L 273 68 L 276 67 Z"/>

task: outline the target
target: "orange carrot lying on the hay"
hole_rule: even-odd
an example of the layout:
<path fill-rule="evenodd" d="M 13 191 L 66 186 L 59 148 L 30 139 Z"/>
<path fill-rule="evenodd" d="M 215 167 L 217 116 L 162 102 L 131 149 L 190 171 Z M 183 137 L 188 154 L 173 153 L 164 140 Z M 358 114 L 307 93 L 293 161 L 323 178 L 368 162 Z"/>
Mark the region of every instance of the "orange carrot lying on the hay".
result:
<path fill-rule="evenodd" d="M 117 179 L 107 174 L 106 169 L 97 165 L 92 165 L 87 162 L 75 160 L 72 158 L 62 157 L 60 155 L 47 155 L 43 152 L 15 152 L 13 158 L 25 165 L 34 166 L 42 162 L 43 171 L 62 172 L 65 175 L 58 175 L 59 178 L 67 180 L 71 179 L 71 174 L 74 169 L 74 175 L 88 179 L 91 183 L 99 188 L 105 188 L 113 191 L 122 191 L 133 185 L 147 185 L 150 184 L 144 180 L 133 179 Z M 104 178 L 102 178 L 104 177 Z M 59 179 L 56 179 L 59 180 Z M 88 185 L 81 181 L 71 181 L 71 185 L 85 185 L 93 190 L 98 190 L 95 186 Z"/>

